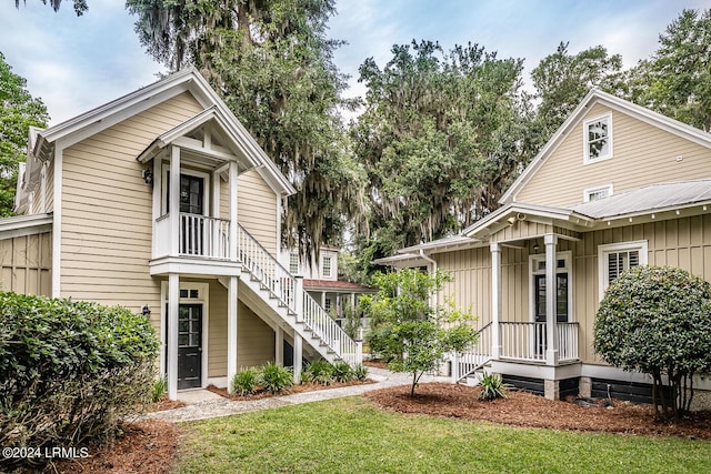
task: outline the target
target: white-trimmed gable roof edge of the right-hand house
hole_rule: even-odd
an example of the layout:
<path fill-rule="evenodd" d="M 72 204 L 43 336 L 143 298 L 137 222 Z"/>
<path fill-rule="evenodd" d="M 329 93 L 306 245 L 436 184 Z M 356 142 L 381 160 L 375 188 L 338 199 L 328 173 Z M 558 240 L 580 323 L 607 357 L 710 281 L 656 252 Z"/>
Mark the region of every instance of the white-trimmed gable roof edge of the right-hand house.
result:
<path fill-rule="evenodd" d="M 711 149 L 711 133 L 707 133 L 694 127 L 662 115 L 661 113 L 651 111 L 632 102 L 628 102 L 624 99 L 593 89 L 568 117 L 565 122 L 563 122 L 563 124 L 555 131 L 548 143 L 543 145 L 541 151 L 535 155 L 531 163 L 529 163 L 513 184 L 511 184 L 501 195 L 501 199 L 499 200 L 500 204 L 509 204 L 517 201 L 517 194 L 519 191 L 521 191 L 523 186 L 531 181 L 545 160 L 548 160 L 548 158 L 561 145 L 569 133 L 578 127 L 578 124 L 584 119 L 588 111 L 598 103 Z"/>

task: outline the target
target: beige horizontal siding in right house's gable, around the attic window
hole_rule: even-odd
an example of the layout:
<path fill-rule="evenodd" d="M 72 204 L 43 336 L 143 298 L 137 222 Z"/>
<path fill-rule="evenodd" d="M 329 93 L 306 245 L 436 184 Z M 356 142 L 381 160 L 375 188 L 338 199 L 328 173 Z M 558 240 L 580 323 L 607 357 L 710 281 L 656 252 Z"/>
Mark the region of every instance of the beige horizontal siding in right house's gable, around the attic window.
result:
<path fill-rule="evenodd" d="M 660 182 L 711 177 L 711 150 L 623 112 L 612 114 L 612 158 L 583 164 L 583 122 L 610 109 L 595 104 L 563 139 L 515 201 L 567 206 L 583 201 L 583 191 L 612 183 L 613 193 Z M 677 157 L 683 160 L 677 161 Z"/>

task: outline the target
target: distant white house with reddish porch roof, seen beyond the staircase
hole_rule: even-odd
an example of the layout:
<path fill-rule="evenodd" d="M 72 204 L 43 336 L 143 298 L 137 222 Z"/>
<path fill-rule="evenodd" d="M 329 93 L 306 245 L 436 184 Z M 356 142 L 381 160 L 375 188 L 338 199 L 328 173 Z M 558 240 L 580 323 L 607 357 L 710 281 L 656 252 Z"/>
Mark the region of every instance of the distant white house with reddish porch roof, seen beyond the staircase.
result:
<path fill-rule="evenodd" d="M 338 253 L 334 246 L 321 246 L 319 256 L 313 255 L 306 263 L 298 252 L 282 251 L 281 262 L 293 275 L 303 276 L 303 289 L 321 304 L 327 312 L 341 320 L 346 305 L 356 307 L 358 297 L 364 293 L 374 293 L 370 286 L 341 281 L 338 279 Z"/>

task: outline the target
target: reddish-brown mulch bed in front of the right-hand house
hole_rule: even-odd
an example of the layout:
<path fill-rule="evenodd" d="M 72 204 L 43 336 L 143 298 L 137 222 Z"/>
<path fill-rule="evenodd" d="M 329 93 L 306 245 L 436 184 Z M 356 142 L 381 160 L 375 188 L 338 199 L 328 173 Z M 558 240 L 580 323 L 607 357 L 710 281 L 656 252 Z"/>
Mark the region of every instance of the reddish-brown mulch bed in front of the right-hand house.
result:
<path fill-rule="evenodd" d="M 711 412 L 697 412 L 692 418 L 660 422 L 651 405 L 613 400 L 612 407 L 579 406 L 565 401 L 515 391 L 508 399 L 478 400 L 480 389 L 445 383 L 382 389 L 364 394 L 379 405 L 400 413 L 488 421 L 514 426 L 547 427 L 584 432 L 623 433 L 651 436 L 681 436 L 711 440 Z"/>

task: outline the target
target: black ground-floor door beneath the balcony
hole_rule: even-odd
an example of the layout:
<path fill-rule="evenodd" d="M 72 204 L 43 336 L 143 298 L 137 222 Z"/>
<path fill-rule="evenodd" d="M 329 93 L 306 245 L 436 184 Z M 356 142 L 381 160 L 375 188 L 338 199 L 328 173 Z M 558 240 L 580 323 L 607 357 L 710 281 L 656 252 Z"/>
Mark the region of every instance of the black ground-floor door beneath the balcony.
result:
<path fill-rule="evenodd" d="M 202 304 L 178 306 L 178 389 L 202 386 Z"/>

